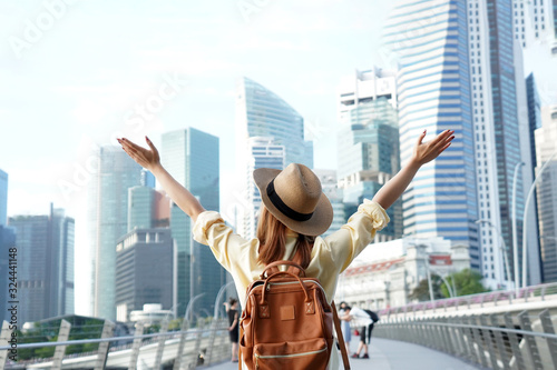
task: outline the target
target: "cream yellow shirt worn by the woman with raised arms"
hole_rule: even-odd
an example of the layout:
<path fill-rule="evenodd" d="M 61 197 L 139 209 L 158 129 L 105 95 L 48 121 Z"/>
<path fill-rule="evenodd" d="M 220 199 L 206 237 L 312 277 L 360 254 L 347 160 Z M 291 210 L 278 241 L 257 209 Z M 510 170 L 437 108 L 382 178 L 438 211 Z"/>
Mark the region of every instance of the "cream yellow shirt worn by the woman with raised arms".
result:
<path fill-rule="evenodd" d="M 319 279 L 329 302 L 333 300 L 339 274 L 389 221 L 389 216 L 381 206 L 365 199 L 340 230 L 326 238 L 315 239 L 305 273 Z M 244 307 L 247 286 L 260 279 L 264 270 L 264 266 L 257 262 L 260 241 L 247 240 L 234 233 L 215 211 L 206 211 L 197 217 L 193 234 L 196 241 L 209 246 L 217 261 L 232 274 L 240 302 Z M 297 233 L 289 231 L 284 260 L 294 256 L 296 237 Z"/>

